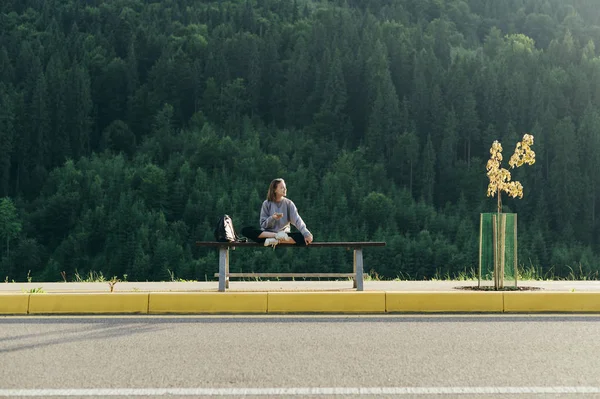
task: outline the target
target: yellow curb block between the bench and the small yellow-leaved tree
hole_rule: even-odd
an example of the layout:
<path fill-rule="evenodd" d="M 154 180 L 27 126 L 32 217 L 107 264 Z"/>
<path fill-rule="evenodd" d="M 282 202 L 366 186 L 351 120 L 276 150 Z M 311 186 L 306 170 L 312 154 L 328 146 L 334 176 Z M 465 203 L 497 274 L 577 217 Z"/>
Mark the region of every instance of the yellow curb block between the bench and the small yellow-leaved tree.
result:
<path fill-rule="evenodd" d="M 501 292 L 386 292 L 387 312 L 502 312 Z"/>

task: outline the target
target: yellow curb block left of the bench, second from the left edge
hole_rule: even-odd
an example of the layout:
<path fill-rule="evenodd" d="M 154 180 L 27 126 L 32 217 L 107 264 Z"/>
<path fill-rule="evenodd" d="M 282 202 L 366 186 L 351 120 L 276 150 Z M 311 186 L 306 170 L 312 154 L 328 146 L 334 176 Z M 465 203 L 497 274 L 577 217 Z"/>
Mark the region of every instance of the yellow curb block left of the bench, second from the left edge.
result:
<path fill-rule="evenodd" d="M 147 293 L 31 294 L 30 314 L 148 313 Z"/>

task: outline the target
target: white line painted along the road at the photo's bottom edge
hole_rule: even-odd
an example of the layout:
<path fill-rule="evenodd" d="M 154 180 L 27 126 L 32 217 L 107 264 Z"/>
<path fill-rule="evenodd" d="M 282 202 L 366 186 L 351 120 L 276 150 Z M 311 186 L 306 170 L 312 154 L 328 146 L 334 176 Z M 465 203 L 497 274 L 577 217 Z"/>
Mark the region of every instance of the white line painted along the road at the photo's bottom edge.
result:
<path fill-rule="evenodd" d="M 330 395 L 560 395 L 598 394 L 600 387 L 379 387 L 379 388 L 115 388 L 0 389 L 0 397 L 53 396 L 330 396 Z"/>

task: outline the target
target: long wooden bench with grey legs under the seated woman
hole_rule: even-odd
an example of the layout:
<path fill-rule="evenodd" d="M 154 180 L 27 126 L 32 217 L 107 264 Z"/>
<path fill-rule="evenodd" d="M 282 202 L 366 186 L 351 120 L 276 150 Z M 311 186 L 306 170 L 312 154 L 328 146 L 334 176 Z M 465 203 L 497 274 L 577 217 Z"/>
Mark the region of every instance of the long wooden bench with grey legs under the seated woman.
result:
<path fill-rule="evenodd" d="M 280 244 L 278 246 L 278 248 L 343 247 L 346 249 L 353 249 L 354 271 L 352 273 L 229 273 L 230 248 L 263 247 L 265 250 L 271 248 L 264 247 L 263 244 L 257 242 L 198 241 L 196 242 L 196 246 L 219 248 L 219 273 L 215 273 L 215 277 L 219 277 L 219 291 L 221 292 L 224 292 L 226 288 L 229 288 L 230 277 L 351 277 L 354 281 L 354 288 L 356 288 L 357 291 L 362 291 L 364 281 L 362 249 L 364 247 L 384 247 L 385 242 L 313 242 L 305 247 L 289 244 Z"/>

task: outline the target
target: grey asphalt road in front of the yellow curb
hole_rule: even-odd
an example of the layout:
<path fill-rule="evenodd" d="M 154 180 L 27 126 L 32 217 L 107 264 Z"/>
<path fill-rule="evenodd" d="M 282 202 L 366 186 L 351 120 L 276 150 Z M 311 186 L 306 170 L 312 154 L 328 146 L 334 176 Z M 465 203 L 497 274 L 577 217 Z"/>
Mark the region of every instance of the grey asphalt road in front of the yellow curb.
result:
<path fill-rule="evenodd" d="M 597 315 L 0 317 L 0 397 L 600 397 L 599 350 Z"/>

